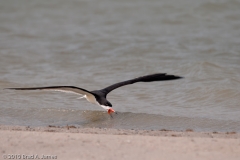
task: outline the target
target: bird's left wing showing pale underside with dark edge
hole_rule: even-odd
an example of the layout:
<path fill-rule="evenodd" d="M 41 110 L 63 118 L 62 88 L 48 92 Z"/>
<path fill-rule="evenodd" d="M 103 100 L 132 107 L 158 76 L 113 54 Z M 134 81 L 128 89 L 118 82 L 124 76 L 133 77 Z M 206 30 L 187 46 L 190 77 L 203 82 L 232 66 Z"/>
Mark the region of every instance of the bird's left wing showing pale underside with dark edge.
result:
<path fill-rule="evenodd" d="M 14 90 L 48 90 L 48 91 L 60 91 L 66 93 L 74 93 L 80 95 L 93 95 L 92 92 L 78 88 L 74 86 L 50 86 L 50 87 L 34 87 L 34 88 L 6 88 L 6 89 L 14 89 Z"/>

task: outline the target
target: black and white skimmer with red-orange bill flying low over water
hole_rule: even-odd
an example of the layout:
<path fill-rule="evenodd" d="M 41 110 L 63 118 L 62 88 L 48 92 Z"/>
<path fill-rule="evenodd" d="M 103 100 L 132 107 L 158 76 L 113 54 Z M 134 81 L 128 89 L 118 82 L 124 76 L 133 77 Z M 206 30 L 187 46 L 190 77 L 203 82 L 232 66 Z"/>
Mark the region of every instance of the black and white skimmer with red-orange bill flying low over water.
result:
<path fill-rule="evenodd" d="M 122 86 L 125 86 L 125 85 L 133 84 L 136 82 L 167 81 L 167 80 L 175 80 L 175 79 L 180 79 L 180 78 L 182 78 L 182 77 L 174 76 L 174 75 L 167 75 L 166 73 L 157 73 L 157 74 L 151 74 L 151 75 L 119 82 L 119 83 L 113 84 L 111 86 L 108 86 L 106 88 L 103 88 L 101 90 L 94 90 L 94 91 L 88 91 L 86 89 L 78 88 L 75 86 L 49 86 L 49 87 L 33 87 L 33 88 L 6 88 L 6 89 L 49 90 L 49 91 L 61 91 L 61 92 L 67 92 L 67 93 L 80 94 L 80 95 L 82 95 L 82 97 L 80 97 L 80 98 L 86 98 L 89 102 L 101 106 L 103 109 L 105 109 L 108 112 L 108 114 L 111 115 L 111 113 L 113 113 L 115 111 L 112 109 L 112 104 L 107 100 L 107 94 L 109 92 L 111 92 L 112 90 L 122 87 Z"/>

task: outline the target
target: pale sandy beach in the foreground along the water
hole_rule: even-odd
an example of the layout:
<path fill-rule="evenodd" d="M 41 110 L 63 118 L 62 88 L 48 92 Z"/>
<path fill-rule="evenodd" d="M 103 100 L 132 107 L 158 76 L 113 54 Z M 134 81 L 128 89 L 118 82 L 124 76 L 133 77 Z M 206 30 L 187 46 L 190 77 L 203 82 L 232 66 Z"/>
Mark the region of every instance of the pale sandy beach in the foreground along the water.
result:
<path fill-rule="evenodd" d="M 2 159 L 240 158 L 240 134 L 0 126 Z"/>

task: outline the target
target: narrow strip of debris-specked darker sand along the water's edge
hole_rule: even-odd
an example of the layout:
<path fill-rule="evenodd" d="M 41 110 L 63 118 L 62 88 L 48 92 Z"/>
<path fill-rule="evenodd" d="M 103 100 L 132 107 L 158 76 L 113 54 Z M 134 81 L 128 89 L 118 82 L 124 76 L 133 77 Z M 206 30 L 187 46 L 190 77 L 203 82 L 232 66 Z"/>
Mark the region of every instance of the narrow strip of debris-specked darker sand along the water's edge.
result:
<path fill-rule="evenodd" d="M 76 126 L 53 126 L 30 127 L 0 125 L 0 131 L 31 131 L 31 132 L 59 132 L 59 133 L 84 133 L 84 134 L 107 134 L 107 135 L 140 135 L 157 137 L 205 137 L 205 138 L 234 138 L 240 139 L 238 132 L 195 132 L 192 129 L 185 131 L 174 130 L 142 130 L 142 129 L 113 129 L 113 128 L 82 128 Z"/>

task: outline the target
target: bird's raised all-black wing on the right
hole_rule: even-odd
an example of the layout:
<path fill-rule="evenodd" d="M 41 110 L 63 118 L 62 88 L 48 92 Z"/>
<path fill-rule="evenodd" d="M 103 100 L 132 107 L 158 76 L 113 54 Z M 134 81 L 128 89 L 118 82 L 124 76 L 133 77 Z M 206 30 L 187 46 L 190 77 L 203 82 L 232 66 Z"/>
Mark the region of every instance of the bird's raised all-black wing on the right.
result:
<path fill-rule="evenodd" d="M 151 74 L 151 75 L 142 76 L 142 77 L 134 78 L 131 80 L 119 82 L 119 83 L 113 84 L 109 87 L 102 89 L 102 91 L 107 95 L 109 92 L 111 92 L 112 90 L 114 90 L 118 87 L 133 84 L 136 82 L 168 81 L 168 80 L 175 80 L 175 79 L 180 79 L 180 78 L 183 78 L 183 77 L 167 75 L 166 73 L 157 73 L 157 74 Z"/>

